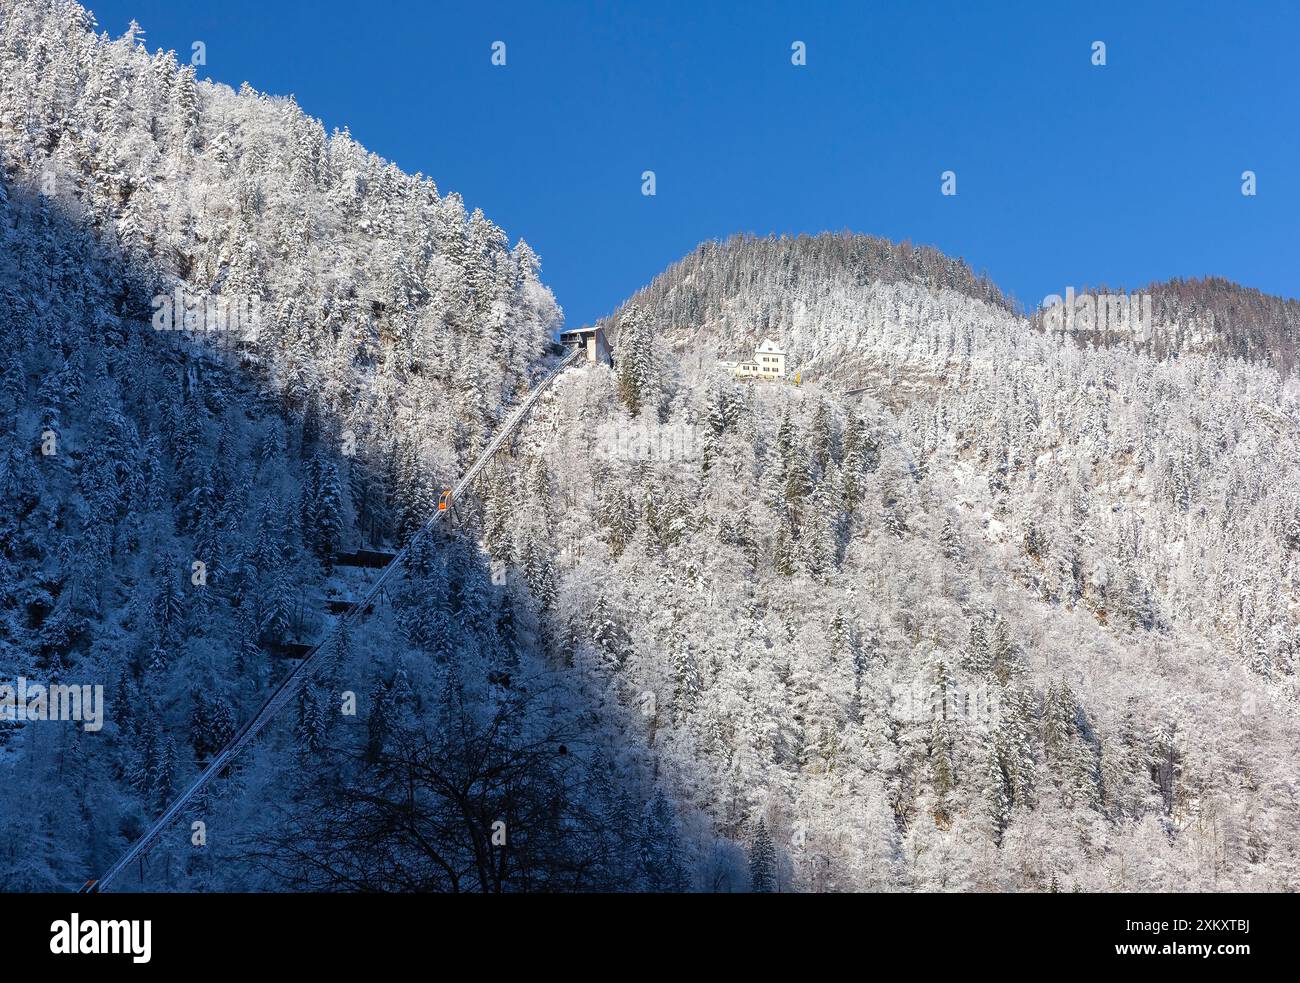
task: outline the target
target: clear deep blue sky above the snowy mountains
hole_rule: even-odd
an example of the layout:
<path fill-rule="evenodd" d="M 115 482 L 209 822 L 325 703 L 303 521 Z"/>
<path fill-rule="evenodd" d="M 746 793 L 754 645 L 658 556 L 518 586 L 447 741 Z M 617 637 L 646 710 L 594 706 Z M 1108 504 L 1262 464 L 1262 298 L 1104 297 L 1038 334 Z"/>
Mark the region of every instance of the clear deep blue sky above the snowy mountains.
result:
<path fill-rule="evenodd" d="M 1028 304 L 1201 274 L 1300 295 L 1290 0 L 90 7 L 459 191 L 541 254 L 571 325 L 736 231 L 930 243 Z"/>

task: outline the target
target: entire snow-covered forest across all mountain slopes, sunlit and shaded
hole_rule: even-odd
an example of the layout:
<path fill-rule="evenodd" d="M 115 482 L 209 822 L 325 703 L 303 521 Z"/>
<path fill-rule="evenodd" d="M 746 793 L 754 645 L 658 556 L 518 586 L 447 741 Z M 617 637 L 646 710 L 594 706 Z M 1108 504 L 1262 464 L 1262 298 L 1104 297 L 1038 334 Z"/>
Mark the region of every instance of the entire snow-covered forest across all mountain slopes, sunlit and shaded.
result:
<path fill-rule="evenodd" d="M 0 720 L 0 887 L 96 876 L 328 638 L 124 887 L 1300 888 L 1300 306 L 1149 293 L 1062 337 L 928 247 L 706 243 L 413 538 L 556 364 L 538 256 L 0 0 L 0 684 L 105 702 Z"/>

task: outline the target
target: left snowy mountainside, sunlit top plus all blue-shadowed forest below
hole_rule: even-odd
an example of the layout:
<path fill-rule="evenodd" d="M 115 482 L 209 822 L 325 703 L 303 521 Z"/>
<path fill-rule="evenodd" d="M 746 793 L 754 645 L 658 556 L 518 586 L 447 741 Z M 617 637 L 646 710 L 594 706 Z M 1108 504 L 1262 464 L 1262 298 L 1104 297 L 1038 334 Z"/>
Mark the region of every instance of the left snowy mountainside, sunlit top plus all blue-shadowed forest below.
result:
<path fill-rule="evenodd" d="M 335 558 L 430 514 L 559 319 L 456 195 L 92 26 L 0 0 L 0 685 L 103 690 L 98 729 L 0 722 L 8 889 L 116 859 L 364 592 Z M 421 550 L 140 885 L 680 887 L 672 810 L 537 622 L 472 541 Z"/>

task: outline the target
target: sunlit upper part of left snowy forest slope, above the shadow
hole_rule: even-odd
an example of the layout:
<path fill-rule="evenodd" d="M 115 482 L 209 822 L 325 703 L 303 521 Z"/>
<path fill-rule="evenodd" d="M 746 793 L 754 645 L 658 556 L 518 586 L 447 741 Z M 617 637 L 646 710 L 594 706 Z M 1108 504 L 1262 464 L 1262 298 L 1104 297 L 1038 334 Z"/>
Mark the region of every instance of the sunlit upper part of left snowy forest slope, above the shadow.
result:
<path fill-rule="evenodd" d="M 410 417 L 443 468 L 441 436 L 480 439 L 545 351 L 559 309 L 536 255 L 459 195 L 292 98 L 98 38 L 77 4 L 5 3 L 0 26 L 5 166 L 129 259 L 121 313 L 150 320 L 176 287 L 255 303 L 255 329 L 218 338 L 246 369 L 363 446 L 391 442 L 369 419 Z"/>

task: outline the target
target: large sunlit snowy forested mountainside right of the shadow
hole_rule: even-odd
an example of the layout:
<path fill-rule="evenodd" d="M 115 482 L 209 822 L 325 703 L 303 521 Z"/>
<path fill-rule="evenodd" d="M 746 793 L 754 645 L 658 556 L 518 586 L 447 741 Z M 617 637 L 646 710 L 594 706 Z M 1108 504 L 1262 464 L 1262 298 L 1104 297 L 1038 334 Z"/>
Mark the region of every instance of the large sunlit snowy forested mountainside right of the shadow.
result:
<path fill-rule="evenodd" d="M 832 238 L 668 270 L 488 489 L 502 558 L 563 507 L 560 658 L 783 885 L 1295 889 L 1295 381 Z M 718 368 L 764 335 L 814 382 Z"/>

